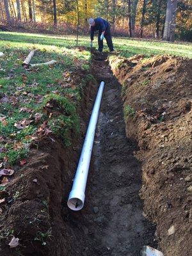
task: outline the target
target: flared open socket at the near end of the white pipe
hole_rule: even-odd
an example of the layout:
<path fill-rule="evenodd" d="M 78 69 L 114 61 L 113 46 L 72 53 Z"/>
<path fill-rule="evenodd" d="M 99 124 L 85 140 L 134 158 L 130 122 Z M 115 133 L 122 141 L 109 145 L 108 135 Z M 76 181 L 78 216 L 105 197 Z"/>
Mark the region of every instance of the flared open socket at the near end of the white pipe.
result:
<path fill-rule="evenodd" d="M 73 211 L 79 211 L 83 208 L 84 205 L 84 193 L 79 193 L 79 191 L 70 191 L 68 196 L 68 207 Z"/>

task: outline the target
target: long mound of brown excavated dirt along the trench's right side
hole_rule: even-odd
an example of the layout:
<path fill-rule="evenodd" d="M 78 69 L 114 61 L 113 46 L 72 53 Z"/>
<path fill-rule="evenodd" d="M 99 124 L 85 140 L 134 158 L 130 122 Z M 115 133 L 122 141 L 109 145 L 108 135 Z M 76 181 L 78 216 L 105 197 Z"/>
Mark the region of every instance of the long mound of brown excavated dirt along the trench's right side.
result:
<path fill-rule="evenodd" d="M 192 60 L 111 58 L 122 84 L 127 137 L 138 140 L 145 214 L 165 256 L 192 255 Z"/>

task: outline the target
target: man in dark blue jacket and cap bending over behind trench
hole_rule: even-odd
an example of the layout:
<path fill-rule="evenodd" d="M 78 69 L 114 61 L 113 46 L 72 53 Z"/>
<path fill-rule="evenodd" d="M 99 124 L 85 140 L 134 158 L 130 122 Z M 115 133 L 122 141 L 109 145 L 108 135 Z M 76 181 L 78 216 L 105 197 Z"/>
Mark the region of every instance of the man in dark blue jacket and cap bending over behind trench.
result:
<path fill-rule="evenodd" d="M 111 38 L 111 30 L 110 30 L 110 24 L 106 20 L 98 17 L 96 19 L 90 18 L 88 19 L 88 22 L 91 26 L 91 47 L 93 46 L 93 38 L 95 31 L 99 30 L 98 34 L 98 45 L 99 45 L 99 51 L 102 52 L 103 49 L 103 39 L 106 38 L 108 47 L 110 52 L 113 52 L 113 42 Z"/>

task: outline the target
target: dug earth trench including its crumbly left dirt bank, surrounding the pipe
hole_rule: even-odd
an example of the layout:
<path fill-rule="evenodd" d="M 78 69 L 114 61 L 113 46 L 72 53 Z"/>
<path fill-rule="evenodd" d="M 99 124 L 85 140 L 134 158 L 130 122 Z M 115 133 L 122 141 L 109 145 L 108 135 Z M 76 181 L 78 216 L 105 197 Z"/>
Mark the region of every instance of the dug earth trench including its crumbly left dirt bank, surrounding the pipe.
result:
<path fill-rule="evenodd" d="M 135 140 L 126 138 L 121 86 L 113 76 L 107 55 L 93 52 L 97 83 L 85 89 L 79 109 L 81 136 L 72 147 L 46 138 L 31 148 L 29 163 L 18 170 L 8 193 L 13 200 L 1 218 L 2 256 L 129 255 L 138 256 L 144 245 L 156 247 L 155 227 L 143 216 L 141 163 L 134 157 Z M 101 80 L 106 83 L 86 201 L 73 212 L 67 198 L 83 145 L 93 100 Z M 19 237 L 19 246 L 8 243 Z"/>

